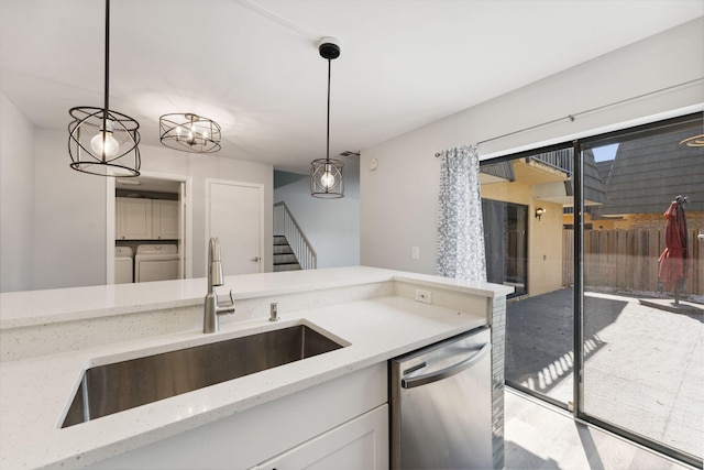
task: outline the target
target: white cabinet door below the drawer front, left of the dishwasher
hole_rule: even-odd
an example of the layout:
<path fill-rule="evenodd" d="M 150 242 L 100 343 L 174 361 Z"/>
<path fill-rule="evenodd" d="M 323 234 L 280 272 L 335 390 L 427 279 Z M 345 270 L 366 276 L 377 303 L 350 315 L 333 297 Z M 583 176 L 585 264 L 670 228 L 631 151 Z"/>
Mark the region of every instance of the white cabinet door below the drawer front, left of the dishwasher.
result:
<path fill-rule="evenodd" d="M 382 405 L 292 450 L 258 470 L 388 468 L 388 405 Z"/>

